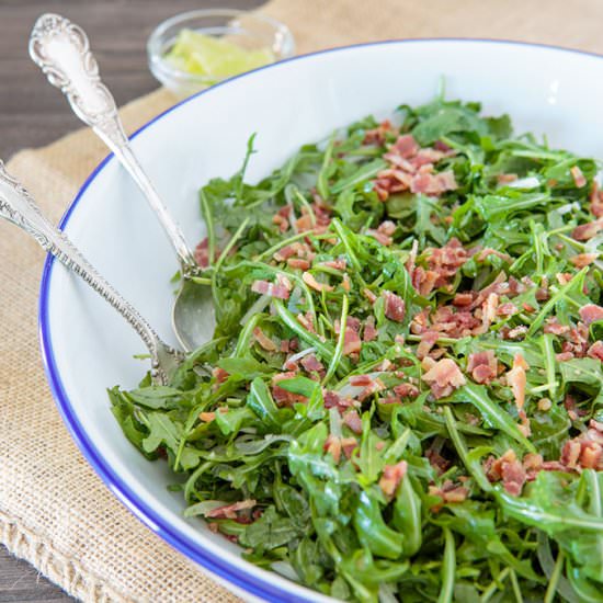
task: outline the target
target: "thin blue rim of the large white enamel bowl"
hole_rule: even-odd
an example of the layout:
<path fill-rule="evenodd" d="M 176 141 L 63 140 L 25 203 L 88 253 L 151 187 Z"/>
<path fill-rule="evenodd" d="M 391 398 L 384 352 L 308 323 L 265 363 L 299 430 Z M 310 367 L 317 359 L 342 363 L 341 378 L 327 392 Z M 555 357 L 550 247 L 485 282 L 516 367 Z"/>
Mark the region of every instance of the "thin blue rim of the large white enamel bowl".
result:
<path fill-rule="evenodd" d="M 203 94 L 211 94 L 212 90 L 215 90 L 220 86 L 228 86 L 228 83 L 231 81 L 249 77 L 258 71 L 272 69 L 284 62 L 304 60 L 305 58 L 308 58 L 308 57 L 316 57 L 328 53 L 346 52 L 353 48 L 382 46 L 387 44 L 424 44 L 424 43 L 433 43 L 433 42 L 451 42 L 451 43 L 465 43 L 465 44 L 482 43 L 482 44 L 497 44 L 497 45 L 500 44 L 500 45 L 509 45 L 509 46 L 527 46 L 527 47 L 544 48 L 549 50 L 557 50 L 561 53 L 585 55 L 585 56 L 590 56 L 599 59 L 603 58 L 603 55 L 600 55 L 596 53 L 579 50 L 576 48 L 565 48 L 562 46 L 554 46 L 549 44 L 536 44 L 536 43 L 517 42 L 517 41 L 511 41 L 511 39 L 464 38 L 464 37 L 386 39 L 382 42 L 369 42 L 369 43 L 353 44 L 353 45 L 342 46 L 337 48 L 327 48 L 325 50 L 319 50 L 317 53 L 299 55 L 299 56 L 281 60 L 278 62 L 266 65 L 258 69 L 254 69 L 253 71 L 248 71 L 247 73 L 235 76 L 234 78 L 219 82 L 213 86 L 212 88 L 208 88 L 207 90 L 202 90 L 201 92 L 197 92 L 196 94 L 187 99 L 184 99 L 183 101 L 171 106 L 163 113 L 159 114 L 157 117 L 152 118 L 150 122 L 148 122 L 147 124 L 141 126 L 139 129 L 137 129 L 130 136 L 130 138 L 135 138 L 141 132 L 147 129 L 149 126 L 151 126 L 152 124 L 155 124 L 156 122 L 164 117 L 166 115 L 168 115 L 172 111 L 175 111 L 178 107 L 182 106 L 183 104 L 193 101 L 197 96 L 201 96 Z M 113 157 L 113 153 L 110 153 L 107 157 L 105 157 L 101 161 L 101 163 L 99 163 L 99 166 L 94 169 L 94 171 L 88 177 L 82 187 L 78 192 L 76 198 L 73 200 L 73 202 L 68 207 L 65 215 L 62 216 L 59 223 L 59 227 L 61 229 L 65 229 L 65 227 L 67 226 L 69 218 L 73 213 L 73 209 L 77 207 L 81 197 L 86 193 L 88 186 L 90 186 L 92 181 L 103 170 L 103 168 L 112 159 L 112 157 Z M 127 507 L 127 509 L 129 509 L 133 512 L 133 514 L 136 515 L 147 527 L 149 527 L 152 532 L 155 532 L 158 536 L 160 536 L 163 541 L 170 544 L 178 551 L 182 553 L 183 555 L 185 555 L 196 564 L 205 567 L 211 572 L 230 582 L 231 584 L 238 587 L 239 589 L 242 589 L 243 591 L 247 591 L 252 595 L 259 596 L 270 602 L 277 603 L 280 601 L 286 600 L 292 603 L 293 602 L 311 603 L 312 602 L 311 596 L 306 598 L 306 596 L 294 595 L 291 592 L 288 592 L 286 589 L 282 589 L 271 583 L 270 576 L 264 579 L 262 577 L 251 576 L 249 573 L 238 571 L 236 568 L 232 568 L 228 564 L 228 561 L 225 561 L 224 559 L 218 558 L 212 551 L 206 550 L 203 547 L 203 545 L 200 545 L 198 543 L 193 542 L 186 535 L 181 534 L 180 531 L 170 526 L 169 522 L 164 521 L 160 515 L 156 514 L 156 512 L 153 511 L 150 504 L 140 500 L 140 498 L 128 487 L 127 483 L 125 483 L 120 478 L 120 476 L 115 474 L 112 467 L 104 460 L 101 451 L 99 451 L 92 444 L 84 429 L 82 428 L 81 423 L 78 421 L 76 417 L 76 412 L 73 410 L 71 401 L 69 400 L 67 392 L 65 391 L 65 388 L 62 386 L 62 382 L 60 379 L 58 367 L 55 361 L 53 341 L 50 335 L 50 327 L 48 321 L 49 319 L 48 293 L 49 293 L 49 285 L 50 285 L 54 263 L 55 263 L 54 258 L 52 255 L 48 255 L 44 264 L 44 270 L 42 273 L 42 282 L 39 286 L 38 335 L 39 335 L 39 345 L 42 350 L 42 357 L 44 362 L 44 369 L 46 372 L 46 377 L 50 386 L 50 391 L 53 394 L 53 397 L 55 398 L 55 401 L 62 417 L 62 420 L 66 423 L 69 432 L 71 433 L 71 436 L 76 441 L 81 453 L 90 463 L 92 468 L 96 471 L 96 474 L 101 477 L 101 479 L 105 482 L 105 485 L 122 501 L 122 503 L 124 503 L 124 505 Z"/>

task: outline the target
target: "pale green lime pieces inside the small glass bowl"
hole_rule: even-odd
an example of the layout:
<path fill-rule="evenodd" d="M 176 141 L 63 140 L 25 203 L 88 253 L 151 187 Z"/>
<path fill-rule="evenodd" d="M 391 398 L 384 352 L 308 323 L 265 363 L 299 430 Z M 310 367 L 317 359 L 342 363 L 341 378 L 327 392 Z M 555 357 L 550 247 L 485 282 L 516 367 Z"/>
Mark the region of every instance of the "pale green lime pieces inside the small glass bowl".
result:
<path fill-rule="evenodd" d="M 219 81 L 274 62 L 274 53 L 268 47 L 247 49 L 235 42 L 182 30 L 166 60 L 180 71 Z"/>

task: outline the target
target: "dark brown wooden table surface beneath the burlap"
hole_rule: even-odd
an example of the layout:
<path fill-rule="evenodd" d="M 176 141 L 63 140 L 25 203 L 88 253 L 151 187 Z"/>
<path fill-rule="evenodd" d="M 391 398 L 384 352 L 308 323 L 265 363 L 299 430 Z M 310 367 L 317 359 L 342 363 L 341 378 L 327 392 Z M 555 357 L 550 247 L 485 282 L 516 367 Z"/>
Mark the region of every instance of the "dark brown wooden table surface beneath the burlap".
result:
<path fill-rule="evenodd" d="M 163 19 L 193 9 L 251 9 L 263 0 L 0 0 L 0 159 L 25 147 L 46 145 L 81 123 L 61 94 L 52 88 L 27 55 L 27 39 L 37 16 L 60 13 L 89 34 L 104 81 L 124 104 L 155 90 L 147 68 L 146 41 Z M 1 474 L 0 474 L 1 479 Z M 0 603 L 71 601 L 14 559 L 0 545 Z"/>

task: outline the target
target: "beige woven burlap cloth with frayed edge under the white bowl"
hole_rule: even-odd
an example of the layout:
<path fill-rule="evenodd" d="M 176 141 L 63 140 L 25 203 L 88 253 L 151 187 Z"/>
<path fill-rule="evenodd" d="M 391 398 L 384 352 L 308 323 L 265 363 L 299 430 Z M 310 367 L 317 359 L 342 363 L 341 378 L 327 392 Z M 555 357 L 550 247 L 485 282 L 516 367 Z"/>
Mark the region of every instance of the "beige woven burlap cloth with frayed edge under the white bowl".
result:
<path fill-rule="evenodd" d="M 475 36 L 603 53 L 600 0 L 273 0 L 298 52 L 392 37 Z M 144 68 L 140 66 L 140 68 Z M 167 109 L 158 91 L 126 107 L 128 130 Z M 9 169 L 58 220 L 105 149 L 79 130 L 25 150 Z M 155 536 L 103 486 L 50 397 L 36 337 L 44 254 L 0 224 L 0 541 L 83 601 L 231 602 L 231 594 Z"/>

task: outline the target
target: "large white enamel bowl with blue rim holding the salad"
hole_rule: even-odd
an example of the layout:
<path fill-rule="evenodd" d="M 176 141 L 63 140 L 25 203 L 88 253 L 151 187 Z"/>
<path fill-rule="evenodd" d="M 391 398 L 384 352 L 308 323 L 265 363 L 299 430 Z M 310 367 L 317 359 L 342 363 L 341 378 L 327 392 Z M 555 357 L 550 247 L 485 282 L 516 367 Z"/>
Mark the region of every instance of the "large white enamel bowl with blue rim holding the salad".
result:
<path fill-rule="evenodd" d="M 431 100 L 445 77 L 451 99 L 508 112 L 516 132 L 546 133 L 551 145 L 603 157 L 601 57 L 525 44 L 406 41 L 294 58 L 202 92 L 143 128 L 133 144 L 189 241 L 203 237 L 197 190 L 241 164 L 257 132 L 249 179 L 281 166 L 304 143 L 369 113 Z M 88 258 L 174 342 L 170 328 L 175 258 L 157 220 L 115 159 L 88 179 L 62 226 Z M 182 516 L 181 493 L 164 463 L 148 463 L 113 419 L 105 388 L 137 384 L 147 365 L 126 322 L 79 278 L 48 260 L 41 340 L 58 408 L 82 453 L 150 530 L 248 599 L 327 601 L 258 569 L 237 546 Z"/>

